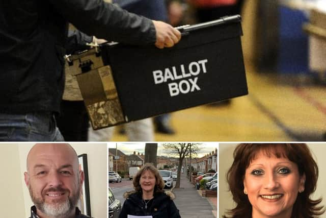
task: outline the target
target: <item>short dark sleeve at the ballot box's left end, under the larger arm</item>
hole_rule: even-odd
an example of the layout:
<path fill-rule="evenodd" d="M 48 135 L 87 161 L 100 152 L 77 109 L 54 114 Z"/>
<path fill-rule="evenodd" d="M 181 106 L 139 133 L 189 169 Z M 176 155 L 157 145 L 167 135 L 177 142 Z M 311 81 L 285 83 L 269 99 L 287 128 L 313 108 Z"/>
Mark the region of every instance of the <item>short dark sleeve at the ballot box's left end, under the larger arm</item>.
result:
<path fill-rule="evenodd" d="M 86 45 L 93 41 L 93 37 L 86 35 L 83 32 L 78 30 L 69 30 L 68 31 L 68 39 L 66 42 L 66 53 L 74 54 L 77 51 L 84 51 L 89 49 L 89 46 Z"/>

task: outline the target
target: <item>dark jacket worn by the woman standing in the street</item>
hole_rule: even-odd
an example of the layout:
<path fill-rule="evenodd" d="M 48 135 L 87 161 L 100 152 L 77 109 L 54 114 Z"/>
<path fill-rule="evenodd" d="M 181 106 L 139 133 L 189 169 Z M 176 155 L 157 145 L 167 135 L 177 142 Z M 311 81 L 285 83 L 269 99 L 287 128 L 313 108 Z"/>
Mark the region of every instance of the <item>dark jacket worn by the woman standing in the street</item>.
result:
<path fill-rule="evenodd" d="M 179 210 L 175 206 L 173 199 L 175 198 L 171 191 L 156 192 L 154 198 L 151 200 L 147 210 L 145 209 L 145 203 L 140 192 L 126 192 L 126 200 L 123 203 L 123 207 L 119 218 L 127 218 L 127 215 L 148 216 L 153 218 L 179 218 Z M 149 204 L 149 203 L 148 203 Z"/>

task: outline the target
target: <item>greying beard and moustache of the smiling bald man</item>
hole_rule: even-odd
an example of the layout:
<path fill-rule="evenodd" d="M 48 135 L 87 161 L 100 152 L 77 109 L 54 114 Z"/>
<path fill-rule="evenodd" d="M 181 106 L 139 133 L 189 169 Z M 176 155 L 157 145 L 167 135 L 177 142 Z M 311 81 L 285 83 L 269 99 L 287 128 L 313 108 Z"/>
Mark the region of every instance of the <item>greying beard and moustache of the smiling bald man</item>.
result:
<path fill-rule="evenodd" d="M 73 193 L 71 197 L 68 197 L 64 201 L 58 201 L 58 202 L 51 202 L 46 203 L 43 196 L 47 191 L 69 191 L 67 189 L 63 189 L 61 187 L 57 188 L 48 188 L 46 190 L 43 190 L 43 195 L 41 197 L 36 197 L 35 192 L 33 191 L 32 187 L 29 186 L 30 190 L 30 196 L 32 198 L 33 203 L 35 204 L 36 208 L 42 211 L 44 214 L 50 216 L 50 217 L 56 217 L 56 218 L 64 218 L 71 213 L 71 211 L 75 210 L 75 207 L 77 205 L 78 199 L 80 197 L 80 188 L 78 187 L 77 193 Z"/>

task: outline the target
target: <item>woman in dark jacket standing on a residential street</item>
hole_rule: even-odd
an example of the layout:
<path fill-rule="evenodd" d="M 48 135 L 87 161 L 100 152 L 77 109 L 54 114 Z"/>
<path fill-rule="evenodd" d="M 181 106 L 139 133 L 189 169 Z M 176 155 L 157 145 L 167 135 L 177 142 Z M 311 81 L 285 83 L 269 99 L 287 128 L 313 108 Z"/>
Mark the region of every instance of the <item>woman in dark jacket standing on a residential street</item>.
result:
<path fill-rule="evenodd" d="M 146 163 L 133 178 L 133 191 L 124 193 L 126 198 L 119 218 L 128 215 L 153 218 L 179 218 L 179 210 L 171 191 L 164 192 L 165 183 L 153 164 Z"/>

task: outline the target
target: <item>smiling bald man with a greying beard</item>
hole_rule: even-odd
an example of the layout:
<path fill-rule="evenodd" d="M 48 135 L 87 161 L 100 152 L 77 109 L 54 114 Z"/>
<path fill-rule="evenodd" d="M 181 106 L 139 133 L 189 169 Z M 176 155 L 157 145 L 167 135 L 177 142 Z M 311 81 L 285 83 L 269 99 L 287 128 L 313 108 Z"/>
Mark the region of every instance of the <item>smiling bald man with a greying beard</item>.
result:
<path fill-rule="evenodd" d="M 35 144 L 27 156 L 26 186 L 34 203 L 30 218 L 82 218 L 76 207 L 84 182 L 70 144 Z"/>

